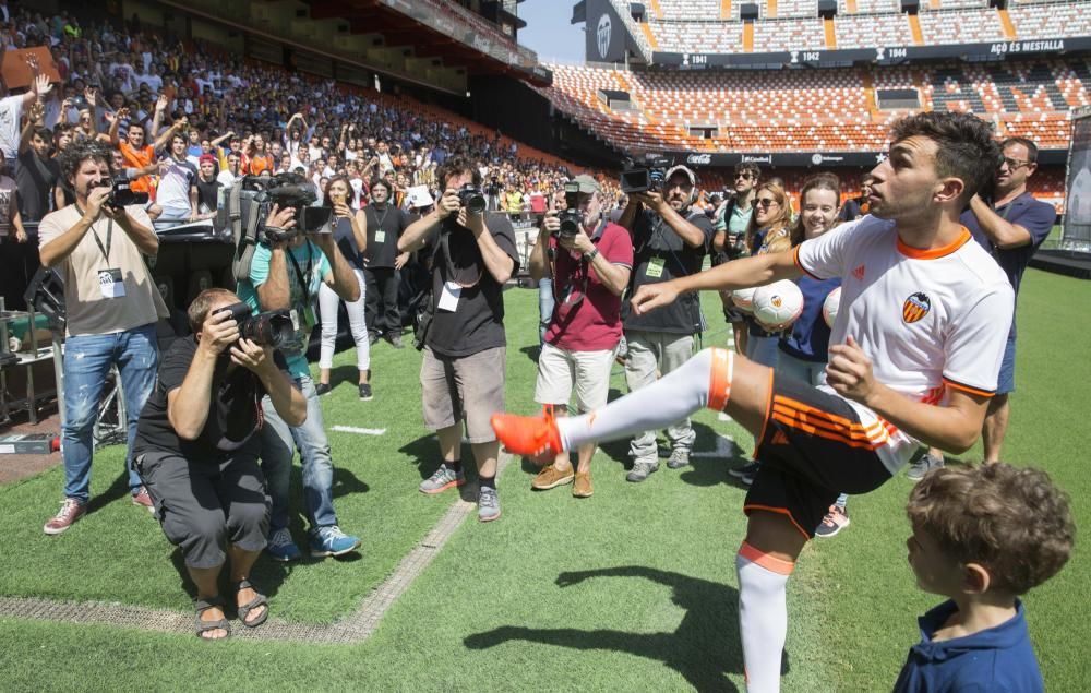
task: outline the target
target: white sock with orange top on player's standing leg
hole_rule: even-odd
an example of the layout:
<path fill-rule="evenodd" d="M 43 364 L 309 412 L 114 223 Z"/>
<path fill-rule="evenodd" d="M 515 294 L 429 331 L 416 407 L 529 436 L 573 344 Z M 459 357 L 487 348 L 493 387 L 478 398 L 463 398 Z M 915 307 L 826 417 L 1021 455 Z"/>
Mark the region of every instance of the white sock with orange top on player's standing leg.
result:
<path fill-rule="evenodd" d="M 786 586 L 794 565 L 763 553 L 745 541 L 735 557 L 739 633 L 750 693 L 780 690 L 780 658 L 788 637 Z"/>

